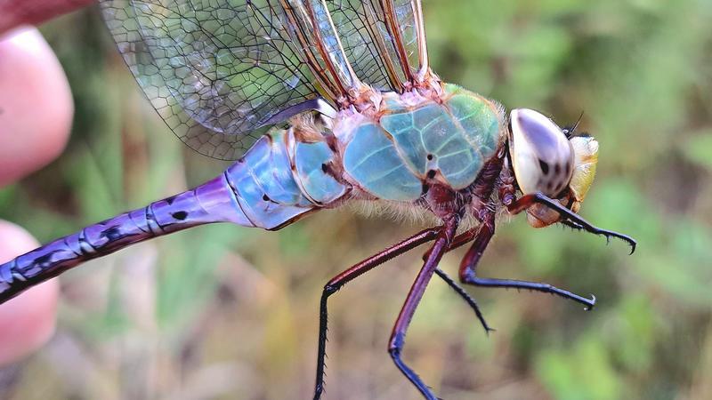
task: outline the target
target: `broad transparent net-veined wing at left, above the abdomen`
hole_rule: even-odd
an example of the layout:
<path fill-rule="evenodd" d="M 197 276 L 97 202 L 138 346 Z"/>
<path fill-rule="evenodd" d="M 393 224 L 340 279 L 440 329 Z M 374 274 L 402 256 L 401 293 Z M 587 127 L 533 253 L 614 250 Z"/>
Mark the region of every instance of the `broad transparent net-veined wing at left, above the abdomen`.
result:
<path fill-rule="evenodd" d="M 101 11 L 166 124 L 199 153 L 232 160 L 275 116 L 320 97 L 273 1 L 102 0 Z"/>

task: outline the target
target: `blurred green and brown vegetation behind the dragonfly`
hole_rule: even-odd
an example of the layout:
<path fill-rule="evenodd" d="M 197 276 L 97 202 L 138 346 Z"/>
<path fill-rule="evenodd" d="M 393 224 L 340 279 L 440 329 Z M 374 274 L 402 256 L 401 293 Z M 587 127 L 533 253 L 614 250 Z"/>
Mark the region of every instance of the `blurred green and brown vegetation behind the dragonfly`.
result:
<path fill-rule="evenodd" d="M 712 398 L 712 3 L 425 0 L 441 77 L 582 127 L 601 145 L 582 214 L 619 242 L 515 218 L 483 276 L 556 284 L 598 306 L 469 289 L 497 332 L 433 279 L 405 359 L 443 398 Z M 95 9 L 43 27 L 77 115 L 55 163 L 0 191 L 41 241 L 222 171 L 184 148 L 134 84 Z M 38 110 L 41 112 L 41 110 Z M 417 226 L 320 212 L 274 232 L 211 226 L 62 278 L 59 329 L 4 370 L 3 398 L 311 398 L 323 284 Z M 326 399 L 419 398 L 385 351 L 420 255 L 332 297 Z M 442 268 L 456 274 L 462 252 Z"/>

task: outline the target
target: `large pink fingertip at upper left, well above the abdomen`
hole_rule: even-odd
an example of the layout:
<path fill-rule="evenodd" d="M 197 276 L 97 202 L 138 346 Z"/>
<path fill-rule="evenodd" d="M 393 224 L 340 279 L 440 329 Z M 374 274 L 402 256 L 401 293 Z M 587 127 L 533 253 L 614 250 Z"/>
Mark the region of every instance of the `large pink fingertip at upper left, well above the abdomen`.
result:
<path fill-rule="evenodd" d="M 36 28 L 0 40 L 0 186 L 61 154 L 74 104 L 67 76 Z"/>

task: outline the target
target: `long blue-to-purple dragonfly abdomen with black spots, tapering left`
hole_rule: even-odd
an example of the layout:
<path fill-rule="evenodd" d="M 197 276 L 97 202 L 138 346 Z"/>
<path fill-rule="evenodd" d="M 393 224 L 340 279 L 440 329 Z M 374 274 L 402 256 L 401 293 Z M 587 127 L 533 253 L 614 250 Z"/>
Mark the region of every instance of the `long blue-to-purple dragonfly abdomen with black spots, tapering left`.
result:
<path fill-rule="evenodd" d="M 279 229 L 347 193 L 321 165 L 323 143 L 295 143 L 273 131 L 218 178 L 0 264 L 0 303 L 69 268 L 156 236 L 214 222 Z M 301 150 L 301 151 L 300 151 Z M 308 150 L 308 151 L 307 151 Z"/>

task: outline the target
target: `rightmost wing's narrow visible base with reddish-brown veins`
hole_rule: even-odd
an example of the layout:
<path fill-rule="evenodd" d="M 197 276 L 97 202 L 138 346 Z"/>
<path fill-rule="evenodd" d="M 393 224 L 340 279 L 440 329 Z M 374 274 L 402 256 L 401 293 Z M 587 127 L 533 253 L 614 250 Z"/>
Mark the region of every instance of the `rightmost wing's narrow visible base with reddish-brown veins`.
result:
<path fill-rule="evenodd" d="M 379 90 L 402 92 L 427 70 L 419 0 L 327 0 L 356 75 Z"/>

